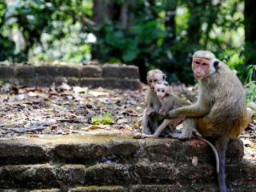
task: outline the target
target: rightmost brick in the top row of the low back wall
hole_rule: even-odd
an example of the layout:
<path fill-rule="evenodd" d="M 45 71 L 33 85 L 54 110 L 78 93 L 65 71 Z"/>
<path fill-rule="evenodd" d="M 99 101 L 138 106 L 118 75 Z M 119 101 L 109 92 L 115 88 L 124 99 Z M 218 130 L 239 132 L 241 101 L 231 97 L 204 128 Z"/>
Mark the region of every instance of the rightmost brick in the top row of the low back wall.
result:
<path fill-rule="evenodd" d="M 106 64 L 102 67 L 103 78 L 139 78 L 137 66 Z"/>

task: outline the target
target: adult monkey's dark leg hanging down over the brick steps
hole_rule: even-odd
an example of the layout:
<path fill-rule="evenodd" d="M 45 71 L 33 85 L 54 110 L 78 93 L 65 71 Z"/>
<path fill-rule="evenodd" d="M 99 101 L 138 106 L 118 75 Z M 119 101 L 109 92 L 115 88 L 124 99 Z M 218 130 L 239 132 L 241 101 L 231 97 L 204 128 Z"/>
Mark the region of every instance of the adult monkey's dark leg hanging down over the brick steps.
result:
<path fill-rule="evenodd" d="M 220 192 L 226 192 L 225 182 L 225 161 L 226 161 L 226 146 L 228 143 L 228 137 L 223 135 L 215 142 L 216 150 L 219 156 L 219 173 L 218 173 L 218 188 Z"/>

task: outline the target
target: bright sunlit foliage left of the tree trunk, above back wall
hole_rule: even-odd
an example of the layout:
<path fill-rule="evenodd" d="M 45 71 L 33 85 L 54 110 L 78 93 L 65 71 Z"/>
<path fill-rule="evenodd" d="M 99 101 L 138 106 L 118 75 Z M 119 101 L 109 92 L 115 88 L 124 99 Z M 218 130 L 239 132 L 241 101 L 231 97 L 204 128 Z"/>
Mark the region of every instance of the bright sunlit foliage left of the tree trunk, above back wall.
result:
<path fill-rule="evenodd" d="M 1 5 L 5 6 L 4 16 Z M 10 46 L 9 57 L 0 54 L 0 61 L 89 60 L 89 33 L 83 20 L 92 15 L 91 7 L 90 0 L 18 0 L 7 6 L 0 3 L 0 23 L 4 20 L 2 29 L 0 25 L 0 44 Z M 16 41 L 15 35 L 19 35 Z"/>

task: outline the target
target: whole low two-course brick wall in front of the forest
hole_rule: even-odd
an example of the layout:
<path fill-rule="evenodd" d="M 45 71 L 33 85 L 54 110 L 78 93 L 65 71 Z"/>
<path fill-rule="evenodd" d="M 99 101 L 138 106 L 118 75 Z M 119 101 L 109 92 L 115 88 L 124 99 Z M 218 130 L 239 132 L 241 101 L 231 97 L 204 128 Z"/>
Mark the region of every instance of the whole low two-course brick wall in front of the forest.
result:
<path fill-rule="evenodd" d="M 138 67 L 104 64 L 86 66 L 0 66 L 0 80 L 20 86 L 50 86 L 66 82 L 89 86 L 138 90 Z"/>

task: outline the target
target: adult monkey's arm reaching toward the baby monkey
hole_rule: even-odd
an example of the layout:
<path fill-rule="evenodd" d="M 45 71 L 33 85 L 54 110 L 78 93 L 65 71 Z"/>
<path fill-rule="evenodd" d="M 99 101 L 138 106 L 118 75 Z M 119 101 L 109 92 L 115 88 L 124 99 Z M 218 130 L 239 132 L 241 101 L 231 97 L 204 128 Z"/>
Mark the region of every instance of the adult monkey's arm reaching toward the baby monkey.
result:
<path fill-rule="evenodd" d="M 185 117 L 202 117 L 206 114 L 209 114 L 210 107 L 202 104 L 201 102 L 197 102 L 191 106 L 183 106 L 175 110 L 170 110 L 165 118 L 178 118 L 180 116 Z"/>

